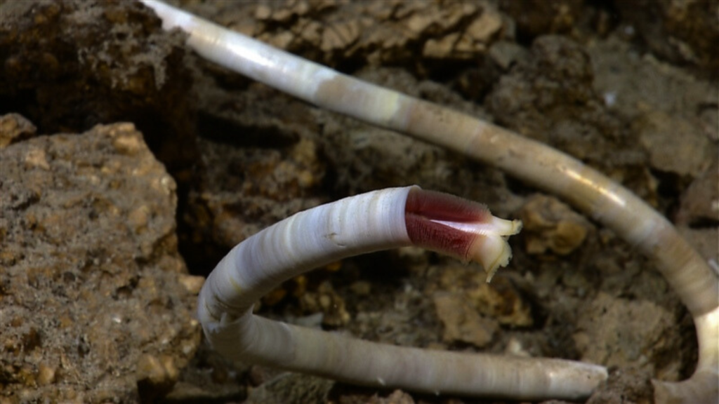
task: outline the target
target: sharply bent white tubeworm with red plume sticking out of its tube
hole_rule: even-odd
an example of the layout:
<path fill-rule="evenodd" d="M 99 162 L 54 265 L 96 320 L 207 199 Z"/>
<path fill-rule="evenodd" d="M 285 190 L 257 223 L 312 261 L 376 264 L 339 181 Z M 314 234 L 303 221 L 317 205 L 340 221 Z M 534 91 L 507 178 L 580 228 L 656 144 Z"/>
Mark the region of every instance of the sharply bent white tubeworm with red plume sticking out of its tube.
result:
<path fill-rule="evenodd" d="M 487 257 L 487 262 L 500 262 L 498 257 L 509 249 L 505 235 L 516 233 L 519 226 L 495 218 L 478 203 L 418 187 L 344 198 L 280 221 L 232 249 L 203 286 L 199 319 L 214 349 L 231 359 L 422 392 L 586 397 L 606 379 L 604 367 L 375 344 L 252 315 L 252 303 L 290 277 L 344 257 L 414 245 L 413 238 L 464 259 L 471 257 L 468 248 L 495 240 L 498 243 L 485 251 L 495 257 Z"/>

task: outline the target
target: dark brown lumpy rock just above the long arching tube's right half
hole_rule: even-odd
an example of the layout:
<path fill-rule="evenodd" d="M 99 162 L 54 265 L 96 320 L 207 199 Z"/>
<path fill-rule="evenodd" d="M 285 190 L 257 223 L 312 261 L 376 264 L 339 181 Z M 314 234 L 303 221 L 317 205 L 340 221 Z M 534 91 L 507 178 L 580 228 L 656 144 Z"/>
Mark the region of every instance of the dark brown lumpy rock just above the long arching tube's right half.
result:
<path fill-rule="evenodd" d="M 637 140 L 628 124 L 605 111 L 593 75 L 584 47 L 566 37 L 539 37 L 531 52 L 495 83 L 487 107 L 505 127 L 605 173 L 617 171 L 638 149 Z"/>

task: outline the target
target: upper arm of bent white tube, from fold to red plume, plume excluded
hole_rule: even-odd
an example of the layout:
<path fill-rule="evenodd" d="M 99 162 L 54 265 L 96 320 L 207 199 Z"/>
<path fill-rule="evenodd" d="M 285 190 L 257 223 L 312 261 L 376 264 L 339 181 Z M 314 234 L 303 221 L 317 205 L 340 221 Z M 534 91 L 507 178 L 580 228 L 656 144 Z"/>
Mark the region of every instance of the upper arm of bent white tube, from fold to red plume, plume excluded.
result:
<path fill-rule="evenodd" d="M 200 293 L 200 321 L 242 315 L 292 277 L 358 254 L 411 245 L 404 209 L 410 188 L 380 190 L 317 206 L 234 247 Z M 361 217 L 361 219 L 359 219 Z"/>

